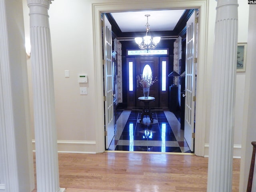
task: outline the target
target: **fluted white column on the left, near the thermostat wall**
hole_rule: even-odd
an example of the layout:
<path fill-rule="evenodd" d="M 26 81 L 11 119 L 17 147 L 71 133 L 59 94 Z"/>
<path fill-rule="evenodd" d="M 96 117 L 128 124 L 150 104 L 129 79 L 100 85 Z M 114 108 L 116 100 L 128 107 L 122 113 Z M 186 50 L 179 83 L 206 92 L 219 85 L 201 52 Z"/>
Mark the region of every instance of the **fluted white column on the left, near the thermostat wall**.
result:
<path fill-rule="evenodd" d="M 51 0 L 28 0 L 37 192 L 60 192 L 54 109 L 52 48 L 48 9 Z"/>

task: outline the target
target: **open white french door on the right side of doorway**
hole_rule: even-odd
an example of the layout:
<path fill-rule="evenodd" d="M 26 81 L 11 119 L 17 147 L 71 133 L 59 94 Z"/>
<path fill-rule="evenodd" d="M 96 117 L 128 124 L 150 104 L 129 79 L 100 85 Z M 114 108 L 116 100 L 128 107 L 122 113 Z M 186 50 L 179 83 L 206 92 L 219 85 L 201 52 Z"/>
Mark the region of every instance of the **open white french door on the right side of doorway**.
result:
<path fill-rule="evenodd" d="M 195 55 L 196 24 L 195 12 L 187 22 L 186 32 L 186 83 L 185 83 L 185 122 L 184 138 L 190 150 L 194 151 L 194 113 L 195 113 Z"/>

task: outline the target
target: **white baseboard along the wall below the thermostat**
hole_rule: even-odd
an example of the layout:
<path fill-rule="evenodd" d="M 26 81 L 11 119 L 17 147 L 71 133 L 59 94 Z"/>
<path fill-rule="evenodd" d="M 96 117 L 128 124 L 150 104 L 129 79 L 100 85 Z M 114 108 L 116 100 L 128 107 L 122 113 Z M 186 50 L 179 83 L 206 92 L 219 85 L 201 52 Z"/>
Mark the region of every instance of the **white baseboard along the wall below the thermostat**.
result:
<path fill-rule="evenodd" d="M 70 141 L 58 140 L 58 152 L 62 153 L 96 153 L 96 141 Z M 35 148 L 35 140 L 32 140 L 33 151 Z"/>

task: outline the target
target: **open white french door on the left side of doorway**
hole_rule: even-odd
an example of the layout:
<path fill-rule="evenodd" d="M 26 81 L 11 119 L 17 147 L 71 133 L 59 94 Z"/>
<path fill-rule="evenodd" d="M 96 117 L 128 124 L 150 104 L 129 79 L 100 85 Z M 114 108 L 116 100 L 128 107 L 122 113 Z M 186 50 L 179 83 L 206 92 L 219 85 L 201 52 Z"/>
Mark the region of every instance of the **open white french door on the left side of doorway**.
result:
<path fill-rule="evenodd" d="M 113 105 L 113 65 L 112 65 L 112 27 L 105 14 L 103 17 L 103 53 L 104 53 L 104 110 L 105 110 L 105 142 L 106 149 L 114 137 L 114 105 Z"/>

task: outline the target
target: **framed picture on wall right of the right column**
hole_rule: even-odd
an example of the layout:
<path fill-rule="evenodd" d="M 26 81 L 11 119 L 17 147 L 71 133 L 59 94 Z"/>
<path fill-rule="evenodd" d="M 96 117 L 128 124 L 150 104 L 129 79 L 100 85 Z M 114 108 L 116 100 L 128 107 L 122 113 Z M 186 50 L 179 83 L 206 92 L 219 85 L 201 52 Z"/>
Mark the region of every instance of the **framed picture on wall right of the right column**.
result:
<path fill-rule="evenodd" d="M 236 72 L 245 72 L 245 67 L 246 67 L 246 43 L 238 43 Z"/>

